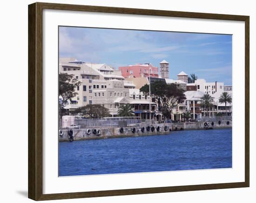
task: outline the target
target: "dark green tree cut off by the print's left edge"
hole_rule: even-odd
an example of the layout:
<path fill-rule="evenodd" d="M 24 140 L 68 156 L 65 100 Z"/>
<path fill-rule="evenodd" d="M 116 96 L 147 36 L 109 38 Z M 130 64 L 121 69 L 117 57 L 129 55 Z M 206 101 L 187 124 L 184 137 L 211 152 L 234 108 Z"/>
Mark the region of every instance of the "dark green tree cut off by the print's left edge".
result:
<path fill-rule="evenodd" d="M 72 100 L 78 94 L 75 89 L 80 85 L 81 82 L 74 78 L 74 74 L 59 74 L 59 96 L 62 97 L 63 103 L 66 103 L 67 100 Z"/>

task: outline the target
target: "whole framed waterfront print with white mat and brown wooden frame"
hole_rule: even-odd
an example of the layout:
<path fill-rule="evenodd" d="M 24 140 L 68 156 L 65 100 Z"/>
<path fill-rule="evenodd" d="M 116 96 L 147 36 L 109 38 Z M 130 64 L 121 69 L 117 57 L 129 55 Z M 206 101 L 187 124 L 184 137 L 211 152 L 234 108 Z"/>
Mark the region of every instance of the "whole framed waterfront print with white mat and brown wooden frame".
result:
<path fill-rule="evenodd" d="M 249 16 L 28 6 L 28 196 L 249 187 Z"/>

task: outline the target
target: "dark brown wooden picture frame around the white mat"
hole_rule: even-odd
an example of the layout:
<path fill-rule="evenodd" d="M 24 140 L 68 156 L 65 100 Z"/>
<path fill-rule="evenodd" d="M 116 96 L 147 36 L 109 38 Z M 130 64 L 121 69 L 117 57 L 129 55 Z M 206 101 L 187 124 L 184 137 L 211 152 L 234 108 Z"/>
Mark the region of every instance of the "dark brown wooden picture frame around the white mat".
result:
<path fill-rule="evenodd" d="M 43 18 L 44 9 L 121 13 L 245 22 L 245 181 L 183 185 L 171 187 L 140 188 L 127 190 L 89 191 L 60 194 L 43 194 Z M 190 190 L 213 190 L 249 187 L 249 16 L 160 11 L 121 7 L 97 7 L 52 3 L 34 3 L 28 6 L 28 197 L 33 200 L 67 199 L 97 196 L 134 195 Z"/>

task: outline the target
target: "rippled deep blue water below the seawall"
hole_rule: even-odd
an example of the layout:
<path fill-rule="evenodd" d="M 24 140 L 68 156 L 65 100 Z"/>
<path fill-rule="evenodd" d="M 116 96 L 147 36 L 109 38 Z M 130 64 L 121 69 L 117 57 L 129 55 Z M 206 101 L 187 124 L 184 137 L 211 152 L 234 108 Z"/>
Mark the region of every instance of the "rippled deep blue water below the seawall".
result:
<path fill-rule="evenodd" d="M 232 167 L 232 129 L 59 143 L 59 176 Z"/>

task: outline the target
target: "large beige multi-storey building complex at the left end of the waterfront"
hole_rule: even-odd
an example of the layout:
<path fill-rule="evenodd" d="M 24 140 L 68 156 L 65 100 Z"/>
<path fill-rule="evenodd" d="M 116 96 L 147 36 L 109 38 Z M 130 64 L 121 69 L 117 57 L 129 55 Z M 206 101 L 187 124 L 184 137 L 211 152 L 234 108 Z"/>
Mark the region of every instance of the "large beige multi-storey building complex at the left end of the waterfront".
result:
<path fill-rule="evenodd" d="M 135 89 L 132 81 L 125 81 L 121 71 L 116 71 L 107 64 L 90 64 L 74 58 L 61 58 L 59 72 L 74 74 L 81 81 L 78 93 L 66 105 L 66 109 L 88 104 L 100 104 L 108 108 L 112 116 L 116 116 L 122 104 L 130 102 L 129 90 Z"/>

